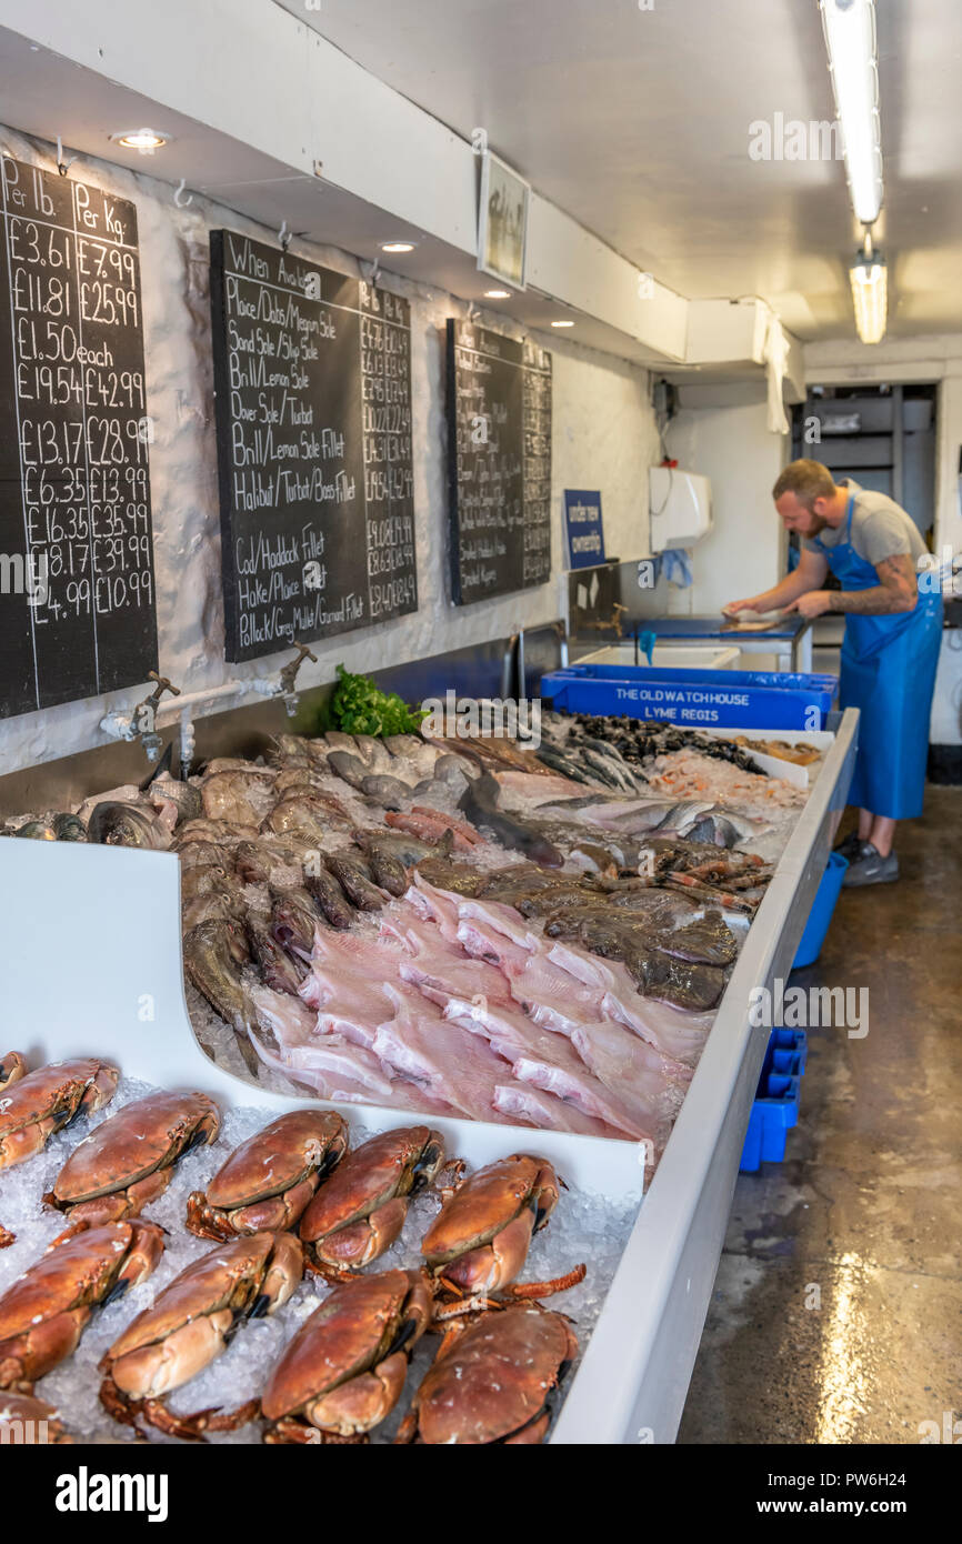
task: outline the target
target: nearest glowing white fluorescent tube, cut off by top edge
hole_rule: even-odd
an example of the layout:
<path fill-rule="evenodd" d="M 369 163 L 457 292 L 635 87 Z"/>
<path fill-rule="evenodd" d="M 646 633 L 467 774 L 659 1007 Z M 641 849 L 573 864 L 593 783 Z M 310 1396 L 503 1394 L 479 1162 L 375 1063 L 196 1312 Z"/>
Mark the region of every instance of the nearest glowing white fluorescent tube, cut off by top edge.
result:
<path fill-rule="evenodd" d="M 820 5 L 852 208 L 860 225 L 871 225 L 882 208 L 876 6 L 872 0 Z"/>

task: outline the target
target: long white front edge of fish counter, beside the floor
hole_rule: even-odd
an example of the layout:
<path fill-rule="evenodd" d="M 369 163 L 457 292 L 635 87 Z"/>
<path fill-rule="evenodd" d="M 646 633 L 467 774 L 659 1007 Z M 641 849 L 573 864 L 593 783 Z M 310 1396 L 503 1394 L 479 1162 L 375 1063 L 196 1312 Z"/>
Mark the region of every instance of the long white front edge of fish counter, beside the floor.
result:
<path fill-rule="evenodd" d="M 749 1024 L 750 993 L 788 979 L 852 780 L 857 726 L 849 709 L 758 908 L 553 1442 L 675 1441 L 769 1038 Z"/>

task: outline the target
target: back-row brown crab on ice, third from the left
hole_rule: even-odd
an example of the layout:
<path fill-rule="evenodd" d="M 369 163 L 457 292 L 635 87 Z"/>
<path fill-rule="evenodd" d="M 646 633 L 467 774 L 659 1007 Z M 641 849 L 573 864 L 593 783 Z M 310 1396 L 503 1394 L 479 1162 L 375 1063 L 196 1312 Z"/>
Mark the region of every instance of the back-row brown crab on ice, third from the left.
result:
<path fill-rule="evenodd" d="M 187 1201 L 187 1226 L 201 1237 L 233 1238 L 293 1227 L 318 1183 L 347 1152 L 347 1124 L 334 1110 L 290 1110 L 242 1143 L 207 1194 Z"/>

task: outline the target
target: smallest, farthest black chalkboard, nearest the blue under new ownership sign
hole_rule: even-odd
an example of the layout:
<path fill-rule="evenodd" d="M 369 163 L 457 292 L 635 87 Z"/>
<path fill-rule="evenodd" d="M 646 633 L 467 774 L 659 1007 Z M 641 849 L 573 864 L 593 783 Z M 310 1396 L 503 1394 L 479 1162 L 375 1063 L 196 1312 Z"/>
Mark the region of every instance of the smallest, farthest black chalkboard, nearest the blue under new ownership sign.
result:
<path fill-rule="evenodd" d="M 466 605 L 551 576 L 551 355 L 448 321 L 451 588 Z"/>

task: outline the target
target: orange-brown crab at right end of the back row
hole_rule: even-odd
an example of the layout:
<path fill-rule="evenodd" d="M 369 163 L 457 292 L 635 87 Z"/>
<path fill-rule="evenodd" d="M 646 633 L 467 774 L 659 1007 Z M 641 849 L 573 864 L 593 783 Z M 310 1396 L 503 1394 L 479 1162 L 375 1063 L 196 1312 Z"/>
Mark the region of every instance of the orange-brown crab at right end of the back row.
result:
<path fill-rule="evenodd" d="M 557 1175 L 547 1158 L 499 1158 L 445 1201 L 422 1254 L 431 1271 L 456 1286 L 496 1292 L 523 1269 L 531 1235 L 545 1226 L 557 1198 Z"/>

